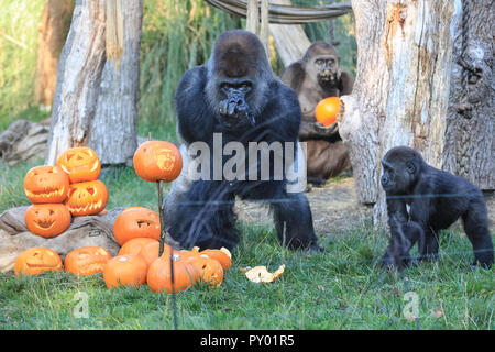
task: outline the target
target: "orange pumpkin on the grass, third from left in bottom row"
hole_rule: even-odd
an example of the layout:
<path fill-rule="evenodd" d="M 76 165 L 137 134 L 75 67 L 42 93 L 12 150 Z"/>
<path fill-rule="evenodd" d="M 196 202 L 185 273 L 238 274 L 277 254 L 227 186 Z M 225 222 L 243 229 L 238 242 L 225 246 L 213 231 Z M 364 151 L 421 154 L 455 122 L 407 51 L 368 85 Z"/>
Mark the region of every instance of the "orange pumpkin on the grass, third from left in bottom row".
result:
<path fill-rule="evenodd" d="M 118 255 L 103 267 L 103 279 L 108 288 L 141 286 L 146 282 L 147 263 L 139 255 Z"/>

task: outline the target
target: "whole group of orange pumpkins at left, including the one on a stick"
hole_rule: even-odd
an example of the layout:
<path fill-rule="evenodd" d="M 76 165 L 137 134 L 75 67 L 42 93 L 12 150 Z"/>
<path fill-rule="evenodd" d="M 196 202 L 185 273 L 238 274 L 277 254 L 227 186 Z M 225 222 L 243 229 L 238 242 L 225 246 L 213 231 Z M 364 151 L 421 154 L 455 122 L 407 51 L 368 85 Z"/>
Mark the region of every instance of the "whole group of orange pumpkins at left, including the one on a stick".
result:
<path fill-rule="evenodd" d="M 148 182 L 175 179 L 183 162 L 177 147 L 168 142 L 148 141 L 134 154 L 136 174 Z M 26 211 L 28 229 L 45 238 L 64 232 L 70 215 L 97 215 L 105 209 L 108 191 L 97 180 L 101 163 L 95 151 L 78 147 L 66 151 L 57 166 L 34 167 L 26 174 L 24 189 L 34 204 Z M 147 283 L 153 292 L 180 292 L 197 282 L 219 286 L 223 271 L 231 265 L 231 253 L 221 250 L 173 250 L 163 244 L 158 257 L 160 216 L 142 207 L 127 208 L 113 226 L 116 241 L 121 245 L 118 256 L 100 246 L 85 246 L 69 252 L 65 271 L 78 276 L 103 272 L 107 287 L 140 286 Z M 170 265 L 173 263 L 173 265 Z M 22 252 L 14 265 L 15 275 L 37 275 L 46 271 L 62 271 L 61 256 L 46 248 Z M 172 284 L 174 282 L 174 284 Z"/>

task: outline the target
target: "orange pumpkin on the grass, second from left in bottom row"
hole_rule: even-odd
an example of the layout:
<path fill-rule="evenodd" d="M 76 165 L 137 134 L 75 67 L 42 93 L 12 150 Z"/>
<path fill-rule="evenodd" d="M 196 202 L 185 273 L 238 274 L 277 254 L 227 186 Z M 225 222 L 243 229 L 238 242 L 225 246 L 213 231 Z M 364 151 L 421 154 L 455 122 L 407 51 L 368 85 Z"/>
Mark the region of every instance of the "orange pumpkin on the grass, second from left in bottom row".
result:
<path fill-rule="evenodd" d="M 65 271 L 80 276 L 101 273 L 111 257 L 111 254 L 101 246 L 81 246 L 67 253 L 64 262 Z"/>

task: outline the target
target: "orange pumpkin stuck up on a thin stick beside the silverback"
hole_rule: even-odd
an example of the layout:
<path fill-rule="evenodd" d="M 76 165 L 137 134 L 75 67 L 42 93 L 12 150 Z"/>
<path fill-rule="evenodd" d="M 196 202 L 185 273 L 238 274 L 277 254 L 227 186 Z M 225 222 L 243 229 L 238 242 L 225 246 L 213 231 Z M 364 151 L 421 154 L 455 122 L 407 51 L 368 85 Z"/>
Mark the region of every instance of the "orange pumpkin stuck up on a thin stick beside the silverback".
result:
<path fill-rule="evenodd" d="M 141 144 L 134 153 L 133 163 L 138 176 L 151 183 L 160 179 L 173 182 L 183 169 L 179 150 L 174 144 L 163 141 L 147 141 Z"/>

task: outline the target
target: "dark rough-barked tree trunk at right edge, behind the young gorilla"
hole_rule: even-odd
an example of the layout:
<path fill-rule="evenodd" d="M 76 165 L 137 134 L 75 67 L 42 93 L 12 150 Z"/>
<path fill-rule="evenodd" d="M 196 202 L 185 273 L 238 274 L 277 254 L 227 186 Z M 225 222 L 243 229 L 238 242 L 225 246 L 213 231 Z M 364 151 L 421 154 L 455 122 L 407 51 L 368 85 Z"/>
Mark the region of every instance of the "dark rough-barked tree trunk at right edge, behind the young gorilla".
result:
<path fill-rule="evenodd" d="M 495 189 L 492 0 L 463 1 L 455 28 L 443 168 Z"/>

